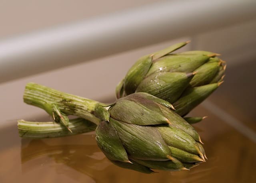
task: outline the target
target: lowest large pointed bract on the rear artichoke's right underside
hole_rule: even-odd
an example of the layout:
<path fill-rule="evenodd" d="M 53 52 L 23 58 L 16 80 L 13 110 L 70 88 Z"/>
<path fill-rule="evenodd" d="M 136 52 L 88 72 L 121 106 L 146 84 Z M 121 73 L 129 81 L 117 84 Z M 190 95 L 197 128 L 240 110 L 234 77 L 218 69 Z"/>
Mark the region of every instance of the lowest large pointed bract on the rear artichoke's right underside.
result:
<path fill-rule="evenodd" d="M 186 89 L 182 96 L 174 102 L 175 112 L 180 116 L 184 116 L 194 107 L 205 100 L 212 92 L 214 92 L 220 83 L 212 83 L 200 87 Z"/>

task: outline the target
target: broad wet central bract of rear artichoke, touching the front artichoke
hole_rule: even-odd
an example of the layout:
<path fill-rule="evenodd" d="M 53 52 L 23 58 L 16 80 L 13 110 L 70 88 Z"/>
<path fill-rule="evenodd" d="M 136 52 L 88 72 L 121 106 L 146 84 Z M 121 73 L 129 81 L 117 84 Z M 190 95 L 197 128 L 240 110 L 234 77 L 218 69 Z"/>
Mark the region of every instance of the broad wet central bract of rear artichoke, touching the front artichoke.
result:
<path fill-rule="evenodd" d="M 192 73 L 153 73 L 140 83 L 136 92 L 147 92 L 172 103 L 188 87 L 192 77 Z"/>

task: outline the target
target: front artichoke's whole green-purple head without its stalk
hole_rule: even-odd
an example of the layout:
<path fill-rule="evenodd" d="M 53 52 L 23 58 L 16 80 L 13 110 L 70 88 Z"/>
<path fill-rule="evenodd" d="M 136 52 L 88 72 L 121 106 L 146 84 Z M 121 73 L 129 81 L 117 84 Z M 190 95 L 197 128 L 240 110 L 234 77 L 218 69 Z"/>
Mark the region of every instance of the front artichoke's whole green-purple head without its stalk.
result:
<path fill-rule="evenodd" d="M 205 161 L 199 134 L 170 102 L 136 92 L 116 100 L 108 112 L 109 120 L 96 128 L 96 142 L 114 164 L 153 173 L 190 169 Z"/>

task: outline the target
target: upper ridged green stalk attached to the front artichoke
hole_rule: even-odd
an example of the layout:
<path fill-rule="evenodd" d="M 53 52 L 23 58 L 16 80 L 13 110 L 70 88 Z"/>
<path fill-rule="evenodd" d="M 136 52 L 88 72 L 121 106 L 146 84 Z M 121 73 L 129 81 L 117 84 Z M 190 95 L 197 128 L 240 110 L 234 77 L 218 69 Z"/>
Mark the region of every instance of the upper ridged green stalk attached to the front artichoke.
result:
<path fill-rule="evenodd" d="M 23 99 L 27 104 L 46 110 L 53 118 L 56 110 L 60 110 L 59 113 L 66 116 L 75 115 L 97 125 L 100 123 L 100 119 L 93 114 L 97 104 L 100 104 L 95 100 L 60 92 L 36 83 L 26 85 Z"/>

